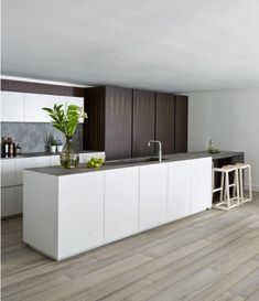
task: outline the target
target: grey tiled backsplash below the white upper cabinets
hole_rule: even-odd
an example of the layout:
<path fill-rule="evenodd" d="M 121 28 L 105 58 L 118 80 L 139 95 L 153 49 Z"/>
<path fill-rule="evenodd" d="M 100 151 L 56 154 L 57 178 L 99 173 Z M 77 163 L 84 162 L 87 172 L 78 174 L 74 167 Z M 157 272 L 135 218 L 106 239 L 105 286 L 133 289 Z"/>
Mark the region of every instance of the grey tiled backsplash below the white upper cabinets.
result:
<path fill-rule="evenodd" d="M 64 143 L 64 135 L 53 128 L 52 123 L 1 122 L 1 136 L 12 137 L 13 141 L 22 147 L 22 152 L 45 151 L 46 138 L 50 133 Z M 78 125 L 73 142 L 76 150 L 83 150 L 82 123 Z"/>

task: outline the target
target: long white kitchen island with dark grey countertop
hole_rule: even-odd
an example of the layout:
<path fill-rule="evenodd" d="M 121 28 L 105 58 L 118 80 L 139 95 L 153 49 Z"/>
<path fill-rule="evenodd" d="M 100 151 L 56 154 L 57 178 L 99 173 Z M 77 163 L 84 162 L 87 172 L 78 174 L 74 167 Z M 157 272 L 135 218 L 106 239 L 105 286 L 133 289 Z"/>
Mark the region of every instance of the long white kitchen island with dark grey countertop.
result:
<path fill-rule="evenodd" d="M 212 207 L 206 152 L 24 171 L 23 240 L 62 260 Z"/>

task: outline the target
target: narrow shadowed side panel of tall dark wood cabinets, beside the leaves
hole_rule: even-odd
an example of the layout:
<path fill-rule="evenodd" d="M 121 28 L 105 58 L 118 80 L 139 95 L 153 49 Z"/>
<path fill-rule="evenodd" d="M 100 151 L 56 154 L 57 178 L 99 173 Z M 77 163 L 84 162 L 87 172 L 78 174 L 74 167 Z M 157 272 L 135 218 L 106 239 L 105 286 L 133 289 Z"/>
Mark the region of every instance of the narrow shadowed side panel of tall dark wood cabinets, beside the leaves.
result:
<path fill-rule="evenodd" d="M 105 87 L 87 88 L 85 108 L 88 119 L 84 122 L 84 149 L 105 150 Z"/>

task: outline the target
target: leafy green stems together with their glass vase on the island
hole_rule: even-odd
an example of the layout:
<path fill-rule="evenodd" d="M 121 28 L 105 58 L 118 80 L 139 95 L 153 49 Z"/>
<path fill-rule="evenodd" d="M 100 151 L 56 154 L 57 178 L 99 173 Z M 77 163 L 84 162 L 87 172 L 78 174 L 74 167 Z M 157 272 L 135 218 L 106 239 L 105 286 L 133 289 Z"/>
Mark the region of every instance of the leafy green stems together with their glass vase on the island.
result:
<path fill-rule="evenodd" d="M 74 169 L 79 163 L 79 155 L 72 148 L 72 139 L 78 127 L 80 118 L 87 118 L 83 108 L 76 105 L 69 105 L 65 109 L 63 105 L 54 105 L 53 108 L 42 108 L 52 118 L 54 128 L 64 133 L 66 138 L 65 146 L 61 152 L 61 164 L 66 169 Z"/>

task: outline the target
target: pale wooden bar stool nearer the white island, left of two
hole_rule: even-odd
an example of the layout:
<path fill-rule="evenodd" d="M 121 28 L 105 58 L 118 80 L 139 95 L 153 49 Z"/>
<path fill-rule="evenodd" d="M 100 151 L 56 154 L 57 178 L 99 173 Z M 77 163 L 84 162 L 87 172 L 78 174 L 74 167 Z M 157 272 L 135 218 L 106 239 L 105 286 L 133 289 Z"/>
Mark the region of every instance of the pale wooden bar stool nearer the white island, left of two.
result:
<path fill-rule="evenodd" d="M 220 186 L 215 187 L 213 183 L 213 194 L 220 192 L 219 202 L 214 204 L 214 208 L 228 211 L 236 206 L 239 206 L 239 181 L 238 181 L 238 169 L 235 165 L 227 165 L 223 168 L 213 169 L 213 179 L 215 172 L 222 173 Z M 229 183 L 229 174 L 234 174 L 234 182 Z M 230 196 L 230 189 L 233 189 L 233 196 Z"/>

